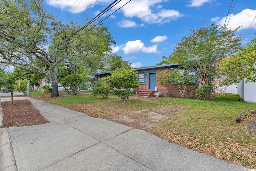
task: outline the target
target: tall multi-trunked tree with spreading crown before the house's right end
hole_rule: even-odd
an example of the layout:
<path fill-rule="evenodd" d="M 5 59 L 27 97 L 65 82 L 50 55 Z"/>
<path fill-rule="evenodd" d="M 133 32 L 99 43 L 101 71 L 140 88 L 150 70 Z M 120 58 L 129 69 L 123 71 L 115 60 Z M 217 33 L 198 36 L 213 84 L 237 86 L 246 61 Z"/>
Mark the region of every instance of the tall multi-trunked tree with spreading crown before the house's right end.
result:
<path fill-rule="evenodd" d="M 208 85 L 217 76 L 218 62 L 241 49 L 237 29 L 230 30 L 215 24 L 206 24 L 197 31 L 191 29 L 192 33 L 176 44 L 168 61 L 180 63 L 183 68 L 196 73 L 200 88 L 211 87 Z"/>

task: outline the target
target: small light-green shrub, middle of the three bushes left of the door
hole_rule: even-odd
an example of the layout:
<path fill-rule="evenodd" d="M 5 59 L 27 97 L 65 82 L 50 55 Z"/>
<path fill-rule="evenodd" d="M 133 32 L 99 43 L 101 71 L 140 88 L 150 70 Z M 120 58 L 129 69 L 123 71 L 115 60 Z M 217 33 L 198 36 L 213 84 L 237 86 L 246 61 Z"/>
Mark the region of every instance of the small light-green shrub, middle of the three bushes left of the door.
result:
<path fill-rule="evenodd" d="M 110 85 L 107 83 L 106 77 L 92 83 L 92 87 L 92 94 L 94 96 L 100 94 L 104 99 L 108 98 Z"/>

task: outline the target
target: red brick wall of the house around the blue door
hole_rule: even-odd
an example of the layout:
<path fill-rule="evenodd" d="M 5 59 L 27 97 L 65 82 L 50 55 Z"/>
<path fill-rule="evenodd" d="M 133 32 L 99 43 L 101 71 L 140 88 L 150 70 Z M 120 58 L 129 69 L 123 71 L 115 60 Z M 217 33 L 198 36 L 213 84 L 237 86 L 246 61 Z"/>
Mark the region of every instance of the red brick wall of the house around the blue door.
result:
<path fill-rule="evenodd" d="M 158 92 L 162 92 L 163 96 L 167 96 L 166 92 L 164 91 L 164 86 L 160 85 L 160 82 L 157 81 L 158 80 L 158 74 L 160 74 L 160 72 L 162 72 L 164 70 L 166 70 L 166 69 L 153 69 L 153 70 L 147 70 L 147 71 L 138 71 L 138 73 L 144 73 L 144 72 L 147 73 L 147 75 L 146 75 L 146 85 L 141 84 L 141 85 L 139 85 L 138 88 L 134 88 L 133 90 L 135 92 L 139 92 L 139 91 L 142 91 L 142 90 L 148 90 L 148 72 L 149 71 L 155 71 L 156 72 L 156 87 L 158 88 Z M 171 71 L 172 69 L 169 68 L 168 70 Z M 198 84 L 187 85 L 186 90 L 191 90 L 195 87 L 198 87 Z M 176 87 L 175 85 L 171 85 L 171 87 L 169 89 L 169 92 L 170 92 L 172 97 L 181 97 L 179 88 Z M 194 90 L 191 90 L 190 92 L 185 92 L 184 96 L 186 98 L 196 98 Z"/>

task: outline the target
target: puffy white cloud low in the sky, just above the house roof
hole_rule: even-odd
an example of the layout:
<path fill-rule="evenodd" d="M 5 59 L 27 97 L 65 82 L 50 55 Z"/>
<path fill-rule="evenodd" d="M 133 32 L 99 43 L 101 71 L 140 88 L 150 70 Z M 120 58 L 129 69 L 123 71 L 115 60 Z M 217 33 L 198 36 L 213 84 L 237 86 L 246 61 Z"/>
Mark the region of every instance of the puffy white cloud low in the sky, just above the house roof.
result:
<path fill-rule="evenodd" d="M 134 41 L 128 41 L 125 44 L 125 47 L 122 48 L 124 51 L 124 54 L 129 53 L 156 53 L 157 52 L 157 45 L 146 47 L 144 46 L 144 43 L 142 43 L 140 40 L 134 40 Z"/>

